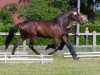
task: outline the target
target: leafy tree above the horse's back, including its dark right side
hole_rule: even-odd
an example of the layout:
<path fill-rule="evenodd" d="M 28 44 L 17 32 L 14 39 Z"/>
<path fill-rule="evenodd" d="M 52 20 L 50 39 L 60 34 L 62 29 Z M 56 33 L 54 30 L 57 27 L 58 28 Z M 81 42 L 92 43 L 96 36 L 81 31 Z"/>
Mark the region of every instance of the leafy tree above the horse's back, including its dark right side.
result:
<path fill-rule="evenodd" d="M 67 3 L 64 0 L 31 0 L 19 9 L 19 12 L 27 19 L 47 20 L 56 17 L 66 9 Z"/>

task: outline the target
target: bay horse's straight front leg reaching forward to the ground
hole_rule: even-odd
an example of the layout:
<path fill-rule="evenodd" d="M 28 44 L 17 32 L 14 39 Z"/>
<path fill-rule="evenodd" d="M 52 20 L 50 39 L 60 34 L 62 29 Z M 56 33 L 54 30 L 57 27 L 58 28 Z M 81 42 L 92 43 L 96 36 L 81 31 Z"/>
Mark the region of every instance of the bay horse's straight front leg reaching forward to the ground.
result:
<path fill-rule="evenodd" d="M 69 49 L 70 54 L 73 56 L 73 59 L 75 59 L 75 60 L 79 59 L 77 57 L 75 48 L 73 47 L 73 45 L 68 40 L 68 36 L 65 35 L 65 36 L 62 37 L 62 39 L 65 42 L 65 45 L 67 46 L 67 48 Z"/>

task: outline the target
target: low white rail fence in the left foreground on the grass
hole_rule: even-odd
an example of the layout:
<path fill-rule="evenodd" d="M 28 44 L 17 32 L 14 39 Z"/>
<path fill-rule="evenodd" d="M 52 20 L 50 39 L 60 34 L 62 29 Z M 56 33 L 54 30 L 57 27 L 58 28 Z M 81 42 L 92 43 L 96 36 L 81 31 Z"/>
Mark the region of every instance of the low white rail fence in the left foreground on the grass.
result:
<path fill-rule="evenodd" d="M 21 53 L 21 52 L 20 52 Z M 23 53 L 23 52 L 22 52 Z M 40 62 L 52 62 L 52 55 L 9 55 L 9 53 L 0 53 L 0 62 L 1 63 L 33 63 L 33 61 Z"/>

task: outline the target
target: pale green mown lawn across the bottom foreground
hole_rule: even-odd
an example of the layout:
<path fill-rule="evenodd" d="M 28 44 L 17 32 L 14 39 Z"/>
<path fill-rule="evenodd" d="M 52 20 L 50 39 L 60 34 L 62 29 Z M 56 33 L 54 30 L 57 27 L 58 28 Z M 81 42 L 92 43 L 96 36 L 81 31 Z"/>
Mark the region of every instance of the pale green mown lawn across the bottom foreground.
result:
<path fill-rule="evenodd" d="M 99 58 L 55 56 L 52 63 L 0 64 L 0 75 L 100 75 Z"/>

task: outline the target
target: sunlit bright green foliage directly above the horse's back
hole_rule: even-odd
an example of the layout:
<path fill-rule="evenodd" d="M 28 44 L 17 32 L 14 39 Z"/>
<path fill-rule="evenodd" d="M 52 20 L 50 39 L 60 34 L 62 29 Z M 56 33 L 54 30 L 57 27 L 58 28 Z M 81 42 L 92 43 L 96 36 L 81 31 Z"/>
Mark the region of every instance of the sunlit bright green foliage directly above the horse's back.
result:
<path fill-rule="evenodd" d="M 48 20 L 56 17 L 61 13 L 60 9 L 50 6 L 49 0 L 32 0 L 31 3 L 27 4 L 20 9 L 20 14 L 27 19 L 32 20 Z"/>

